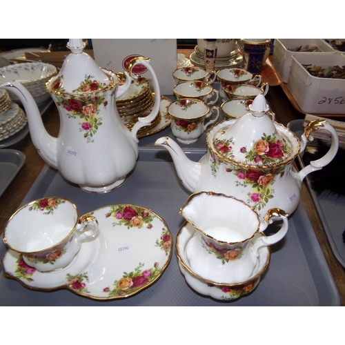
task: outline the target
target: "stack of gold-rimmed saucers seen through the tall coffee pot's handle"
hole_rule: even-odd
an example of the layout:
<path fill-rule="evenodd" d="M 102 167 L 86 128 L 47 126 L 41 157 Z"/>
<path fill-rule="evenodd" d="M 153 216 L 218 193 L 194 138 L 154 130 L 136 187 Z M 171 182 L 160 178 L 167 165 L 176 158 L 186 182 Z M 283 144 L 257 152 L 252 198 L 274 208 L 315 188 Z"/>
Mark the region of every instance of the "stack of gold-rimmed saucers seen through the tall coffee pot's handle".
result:
<path fill-rule="evenodd" d="M 124 73 L 117 73 L 120 83 L 126 81 Z M 121 120 L 130 130 L 137 123 L 139 117 L 146 117 L 150 114 L 152 106 L 155 104 L 155 94 L 152 92 L 149 81 L 139 76 L 132 81 L 130 88 L 116 100 L 117 111 Z M 150 124 L 138 130 L 138 134 L 154 128 L 161 121 L 160 112 Z"/>

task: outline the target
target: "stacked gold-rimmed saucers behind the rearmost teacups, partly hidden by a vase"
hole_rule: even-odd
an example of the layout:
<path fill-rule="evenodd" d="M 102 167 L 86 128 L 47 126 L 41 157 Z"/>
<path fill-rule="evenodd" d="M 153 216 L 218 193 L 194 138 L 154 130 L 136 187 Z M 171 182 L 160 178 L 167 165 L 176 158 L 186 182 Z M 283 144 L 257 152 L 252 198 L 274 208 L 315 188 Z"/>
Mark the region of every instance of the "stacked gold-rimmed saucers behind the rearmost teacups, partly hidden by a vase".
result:
<path fill-rule="evenodd" d="M 190 55 L 190 62 L 194 66 L 205 67 L 204 52 L 195 47 L 194 52 Z M 224 57 L 216 57 L 215 69 L 221 70 L 228 67 L 239 67 L 243 63 L 243 56 L 240 54 L 239 48 L 235 46 L 230 55 Z"/>

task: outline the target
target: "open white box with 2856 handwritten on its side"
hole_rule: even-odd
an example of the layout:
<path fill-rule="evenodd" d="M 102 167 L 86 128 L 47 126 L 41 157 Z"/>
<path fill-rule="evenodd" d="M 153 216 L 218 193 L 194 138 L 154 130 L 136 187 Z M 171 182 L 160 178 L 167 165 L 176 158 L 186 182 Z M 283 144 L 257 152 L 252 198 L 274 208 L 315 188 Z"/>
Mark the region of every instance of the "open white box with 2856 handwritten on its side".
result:
<path fill-rule="evenodd" d="M 302 64 L 322 68 L 345 66 L 345 56 L 322 53 L 293 55 L 287 85 L 302 112 L 345 114 L 345 79 L 313 77 Z"/>

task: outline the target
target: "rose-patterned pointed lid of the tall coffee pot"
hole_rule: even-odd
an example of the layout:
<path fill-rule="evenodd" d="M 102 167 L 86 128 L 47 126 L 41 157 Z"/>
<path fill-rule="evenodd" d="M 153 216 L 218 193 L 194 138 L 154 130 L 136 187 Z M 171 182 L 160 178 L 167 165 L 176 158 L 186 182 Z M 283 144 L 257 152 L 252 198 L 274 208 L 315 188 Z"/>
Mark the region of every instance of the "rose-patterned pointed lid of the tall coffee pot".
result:
<path fill-rule="evenodd" d="M 82 39 L 69 39 L 67 48 L 71 53 L 63 61 L 59 74 L 49 83 L 53 92 L 81 95 L 112 86 L 112 77 L 103 72 L 90 55 L 83 52 L 85 46 Z"/>

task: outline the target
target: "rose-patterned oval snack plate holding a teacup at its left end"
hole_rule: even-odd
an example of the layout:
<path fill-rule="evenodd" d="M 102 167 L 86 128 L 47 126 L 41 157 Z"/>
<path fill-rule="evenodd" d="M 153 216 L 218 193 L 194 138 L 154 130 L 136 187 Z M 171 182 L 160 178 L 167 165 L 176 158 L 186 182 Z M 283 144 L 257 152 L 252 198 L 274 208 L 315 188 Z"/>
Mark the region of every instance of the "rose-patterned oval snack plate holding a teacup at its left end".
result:
<path fill-rule="evenodd" d="M 173 242 L 161 217 L 130 204 L 103 206 L 86 215 L 97 218 L 99 233 L 83 240 L 68 266 L 43 273 L 8 250 L 1 259 L 3 275 L 34 290 L 67 288 L 91 299 L 129 297 L 161 277 L 170 263 Z"/>

